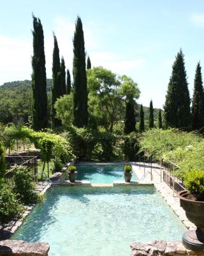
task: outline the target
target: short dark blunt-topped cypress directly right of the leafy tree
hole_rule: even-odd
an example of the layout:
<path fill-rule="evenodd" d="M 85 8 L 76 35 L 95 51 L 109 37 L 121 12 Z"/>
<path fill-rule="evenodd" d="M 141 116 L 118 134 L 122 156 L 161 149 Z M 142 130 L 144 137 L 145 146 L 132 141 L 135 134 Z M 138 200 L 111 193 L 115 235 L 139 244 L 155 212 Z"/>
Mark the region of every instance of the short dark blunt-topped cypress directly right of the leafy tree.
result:
<path fill-rule="evenodd" d="M 134 100 L 127 100 L 126 102 L 126 116 L 125 116 L 125 126 L 124 133 L 129 134 L 130 132 L 135 131 L 135 108 L 134 108 Z"/>

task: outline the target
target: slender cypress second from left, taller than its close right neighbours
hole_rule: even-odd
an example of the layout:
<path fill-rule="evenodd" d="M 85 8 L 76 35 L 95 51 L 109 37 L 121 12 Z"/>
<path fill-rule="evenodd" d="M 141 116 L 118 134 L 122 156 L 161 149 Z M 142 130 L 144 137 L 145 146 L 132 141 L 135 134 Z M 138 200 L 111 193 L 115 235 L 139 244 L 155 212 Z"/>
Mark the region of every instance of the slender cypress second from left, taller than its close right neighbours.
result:
<path fill-rule="evenodd" d="M 54 104 L 56 100 L 61 97 L 61 65 L 59 58 L 59 47 L 57 44 L 57 38 L 54 35 L 54 49 L 52 54 L 52 105 L 51 105 L 51 124 L 52 127 L 61 125 L 61 120 L 56 118 L 56 110 Z"/>

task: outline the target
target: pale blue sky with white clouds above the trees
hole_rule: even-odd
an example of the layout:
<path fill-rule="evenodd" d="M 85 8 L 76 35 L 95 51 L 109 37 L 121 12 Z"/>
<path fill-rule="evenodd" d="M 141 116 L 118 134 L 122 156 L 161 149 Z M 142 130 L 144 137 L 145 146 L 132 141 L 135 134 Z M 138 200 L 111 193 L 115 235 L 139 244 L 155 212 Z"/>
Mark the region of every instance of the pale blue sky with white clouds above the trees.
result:
<path fill-rule="evenodd" d="M 163 108 L 171 66 L 180 47 L 189 91 L 194 70 L 204 70 L 203 0 L 0 0 L 0 84 L 31 79 L 32 12 L 45 35 L 47 77 L 52 77 L 52 31 L 71 70 L 72 38 L 80 15 L 93 66 L 126 74 L 141 90 L 138 103 Z"/>

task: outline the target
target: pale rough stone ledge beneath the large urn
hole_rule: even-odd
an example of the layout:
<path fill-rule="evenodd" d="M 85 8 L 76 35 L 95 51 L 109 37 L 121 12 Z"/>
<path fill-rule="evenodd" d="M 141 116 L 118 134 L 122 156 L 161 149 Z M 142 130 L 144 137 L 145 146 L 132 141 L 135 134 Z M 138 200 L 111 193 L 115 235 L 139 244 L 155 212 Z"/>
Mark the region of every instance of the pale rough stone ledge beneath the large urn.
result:
<path fill-rule="evenodd" d="M 181 241 L 153 241 L 150 243 L 132 243 L 131 256 L 204 256 L 204 252 L 187 250 Z"/>

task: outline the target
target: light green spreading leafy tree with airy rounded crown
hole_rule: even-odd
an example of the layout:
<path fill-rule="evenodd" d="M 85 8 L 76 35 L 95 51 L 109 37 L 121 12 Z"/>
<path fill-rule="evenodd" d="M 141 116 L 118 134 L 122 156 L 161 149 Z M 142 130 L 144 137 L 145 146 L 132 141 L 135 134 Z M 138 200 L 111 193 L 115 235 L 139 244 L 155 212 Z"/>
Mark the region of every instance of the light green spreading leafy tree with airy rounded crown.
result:
<path fill-rule="evenodd" d="M 117 77 L 103 67 L 87 70 L 89 88 L 89 110 L 98 125 L 112 132 L 113 125 L 124 118 L 124 102 L 137 99 L 140 90 L 137 84 L 127 76 Z"/>

